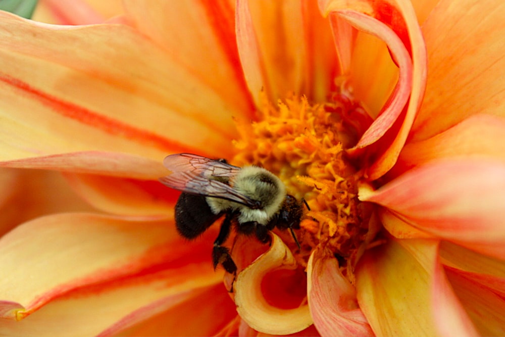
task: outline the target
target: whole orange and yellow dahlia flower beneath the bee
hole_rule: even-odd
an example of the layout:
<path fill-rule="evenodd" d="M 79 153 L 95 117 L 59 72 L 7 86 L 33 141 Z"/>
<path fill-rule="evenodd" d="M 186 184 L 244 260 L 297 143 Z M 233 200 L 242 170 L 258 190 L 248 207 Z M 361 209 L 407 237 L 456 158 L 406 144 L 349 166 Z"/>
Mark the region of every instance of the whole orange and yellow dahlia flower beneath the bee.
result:
<path fill-rule="evenodd" d="M 62 172 L 95 208 L 58 199 L 2 236 L 0 333 L 505 333 L 504 11 L 125 1 L 115 24 L 76 27 L 0 14 L 0 165 Z M 178 152 L 277 174 L 310 206 L 301 249 L 282 230 L 230 238 L 239 272 L 223 285 L 219 226 L 182 239 L 178 193 L 158 182 Z"/>

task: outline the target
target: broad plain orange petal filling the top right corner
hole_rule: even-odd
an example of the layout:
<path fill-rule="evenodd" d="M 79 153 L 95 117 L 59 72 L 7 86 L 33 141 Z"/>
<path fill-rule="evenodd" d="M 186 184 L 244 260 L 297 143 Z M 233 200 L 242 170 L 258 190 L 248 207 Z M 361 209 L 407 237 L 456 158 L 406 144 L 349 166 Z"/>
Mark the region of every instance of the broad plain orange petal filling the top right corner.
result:
<path fill-rule="evenodd" d="M 501 0 L 442 0 L 423 26 L 428 84 L 413 140 L 432 137 L 473 114 L 503 116 L 505 6 Z M 443 33 L 441 33 L 443 32 Z"/>

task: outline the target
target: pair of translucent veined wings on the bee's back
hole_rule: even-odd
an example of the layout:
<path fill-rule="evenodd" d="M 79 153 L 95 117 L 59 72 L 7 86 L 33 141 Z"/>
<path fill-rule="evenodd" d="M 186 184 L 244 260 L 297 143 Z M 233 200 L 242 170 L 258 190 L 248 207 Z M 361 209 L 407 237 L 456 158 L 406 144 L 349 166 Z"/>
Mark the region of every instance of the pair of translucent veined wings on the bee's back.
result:
<path fill-rule="evenodd" d="M 226 182 L 215 180 L 233 177 L 240 167 L 191 154 L 170 155 L 163 163 L 173 172 L 160 178 L 168 187 L 199 196 L 230 200 L 251 208 L 258 207 L 257 201 L 240 194 Z"/>

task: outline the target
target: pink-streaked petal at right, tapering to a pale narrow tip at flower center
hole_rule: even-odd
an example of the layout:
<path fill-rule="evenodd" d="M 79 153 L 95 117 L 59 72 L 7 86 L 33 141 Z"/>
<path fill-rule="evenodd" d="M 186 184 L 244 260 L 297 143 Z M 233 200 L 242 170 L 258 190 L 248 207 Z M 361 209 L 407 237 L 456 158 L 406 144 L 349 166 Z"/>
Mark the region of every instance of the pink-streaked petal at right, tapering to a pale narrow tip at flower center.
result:
<path fill-rule="evenodd" d="M 446 160 L 408 171 L 360 200 L 382 205 L 417 228 L 483 254 L 505 256 L 505 164 Z"/>

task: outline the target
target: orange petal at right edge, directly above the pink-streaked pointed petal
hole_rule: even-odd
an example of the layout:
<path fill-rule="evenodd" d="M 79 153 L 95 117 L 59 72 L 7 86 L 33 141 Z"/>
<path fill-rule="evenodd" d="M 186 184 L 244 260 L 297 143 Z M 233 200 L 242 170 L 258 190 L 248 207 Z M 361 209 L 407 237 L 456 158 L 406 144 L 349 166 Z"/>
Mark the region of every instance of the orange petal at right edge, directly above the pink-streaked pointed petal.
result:
<path fill-rule="evenodd" d="M 496 141 L 505 134 L 505 119 L 474 115 L 426 140 L 410 142 L 401 151 L 398 165 L 403 169 L 435 159 L 490 156 L 505 161 L 505 143 Z"/>

